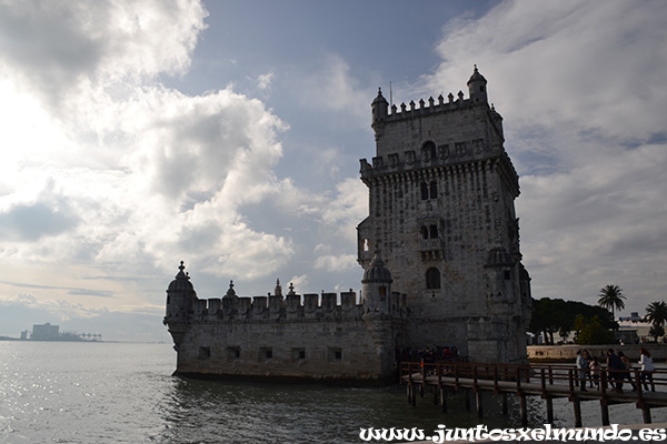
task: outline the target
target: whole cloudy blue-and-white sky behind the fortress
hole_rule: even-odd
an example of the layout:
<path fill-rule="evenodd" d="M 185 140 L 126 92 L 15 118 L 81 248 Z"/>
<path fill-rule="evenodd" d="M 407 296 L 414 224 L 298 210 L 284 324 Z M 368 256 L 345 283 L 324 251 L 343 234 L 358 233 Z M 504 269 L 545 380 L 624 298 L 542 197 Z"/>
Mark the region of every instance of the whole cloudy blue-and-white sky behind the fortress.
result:
<path fill-rule="evenodd" d="M 199 297 L 360 289 L 370 102 L 475 64 L 536 299 L 667 296 L 667 3 L 0 0 L 0 335 L 165 341 Z"/>

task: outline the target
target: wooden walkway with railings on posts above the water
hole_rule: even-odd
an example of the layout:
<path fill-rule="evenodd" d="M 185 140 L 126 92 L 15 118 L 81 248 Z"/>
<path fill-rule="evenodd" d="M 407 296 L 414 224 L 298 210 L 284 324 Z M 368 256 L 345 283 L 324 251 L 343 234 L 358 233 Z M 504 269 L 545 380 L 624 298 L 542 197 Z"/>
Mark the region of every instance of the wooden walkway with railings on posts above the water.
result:
<path fill-rule="evenodd" d="M 566 397 L 573 403 L 575 427 L 581 425 L 581 402 L 598 401 L 603 425 L 609 425 L 609 405 L 635 403 L 641 408 L 644 422 L 651 423 L 650 410 L 667 407 L 667 370 L 653 372 L 653 384 L 648 391 L 643 384 L 635 384 L 636 391 L 628 381 L 639 381 L 641 372 L 638 369 L 630 371 L 603 370 L 599 389 L 590 389 L 590 379 L 586 380 L 587 391 L 581 391 L 579 372 L 573 365 L 542 364 L 542 365 L 512 365 L 490 363 L 436 363 L 425 364 L 419 362 L 404 362 L 399 365 L 400 382 L 407 384 L 408 402 L 417 403 L 417 395 L 424 396 L 425 390 L 434 394 L 434 403 L 447 412 L 447 392 L 466 393 L 466 406 L 469 407 L 469 394 L 476 397 L 477 415 L 482 416 L 482 392 L 492 392 L 502 395 L 502 414 L 507 414 L 507 395 L 519 398 L 521 423 L 528 423 L 527 396 L 540 396 L 547 405 L 547 422 L 554 424 L 552 400 Z M 608 380 L 624 376 L 624 390 L 618 392 L 608 386 Z M 609 382 L 609 384 L 611 384 Z"/>

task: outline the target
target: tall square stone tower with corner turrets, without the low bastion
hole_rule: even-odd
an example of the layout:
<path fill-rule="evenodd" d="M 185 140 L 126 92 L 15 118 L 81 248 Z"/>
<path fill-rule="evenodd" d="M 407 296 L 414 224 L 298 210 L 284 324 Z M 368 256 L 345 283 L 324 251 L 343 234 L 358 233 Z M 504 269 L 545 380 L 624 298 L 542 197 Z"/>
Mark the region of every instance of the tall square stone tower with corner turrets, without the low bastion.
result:
<path fill-rule="evenodd" d="M 526 357 L 530 278 L 521 264 L 518 175 L 502 118 L 477 67 L 461 91 L 396 105 L 378 92 L 376 157 L 361 162 L 369 216 L 357 228 L 358 261 L 381 249 L 408 322 L 397 345 L 456 345 L 474 361 Z"/>

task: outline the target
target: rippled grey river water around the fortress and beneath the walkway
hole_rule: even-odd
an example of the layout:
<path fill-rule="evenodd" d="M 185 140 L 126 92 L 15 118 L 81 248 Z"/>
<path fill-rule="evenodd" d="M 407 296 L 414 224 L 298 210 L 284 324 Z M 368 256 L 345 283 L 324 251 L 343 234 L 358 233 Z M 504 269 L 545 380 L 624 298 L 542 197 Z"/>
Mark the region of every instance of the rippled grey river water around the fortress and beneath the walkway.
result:
<path fill-rule="evenodd" d="M 170 344 L 0 342 L 2 443 L 360 443 L 360 427 L 489 427 L 519 424 L 485 394 L 485 417 L 448 397 L 442 413 L 427 394 L 407 405 L 404 387 L 340 389 L 316 384 L 229 383 L 171 376 Z M 544 402 L 529 397 L 530 425 Z M 472 402 L 474 403 L 474 402 Z M 573 407 L 555 401 L 557 426 Z M 613 423 L 640 423 L 634 406 L 613 405 Z M 654 423 L 667 408 L 653 410 Z M 600 425 L 597 402 L 583 403 L 584 425 Z"/>

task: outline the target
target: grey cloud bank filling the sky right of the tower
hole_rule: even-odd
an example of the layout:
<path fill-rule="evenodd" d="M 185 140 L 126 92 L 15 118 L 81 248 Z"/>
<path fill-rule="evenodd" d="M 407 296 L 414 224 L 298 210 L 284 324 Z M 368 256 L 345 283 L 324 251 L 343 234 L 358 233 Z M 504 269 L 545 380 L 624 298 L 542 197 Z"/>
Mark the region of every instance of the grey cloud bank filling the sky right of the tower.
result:
<path fill-rule="evenodd" d="M 487 78 L 521 175 L 517 215 L 538 297 L 595 303 L 615 283 L 640 311 L 661 294 L 665 12 L 650 1 L 505 1 L 449 23 L 442 63 L 422 79 L 424 91 L 456 93 L 474 63 Z"/>

